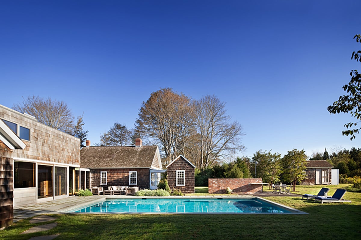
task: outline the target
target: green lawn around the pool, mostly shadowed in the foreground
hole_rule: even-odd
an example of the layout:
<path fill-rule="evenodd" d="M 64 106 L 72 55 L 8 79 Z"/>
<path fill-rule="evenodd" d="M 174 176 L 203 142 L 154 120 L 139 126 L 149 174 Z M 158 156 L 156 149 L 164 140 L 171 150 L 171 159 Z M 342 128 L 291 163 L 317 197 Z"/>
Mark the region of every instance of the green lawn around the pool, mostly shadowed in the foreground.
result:
<path fill-rule="evenodd" d="M 333 194 L 336 188 L 328 186 Z M 322 186 L 297 186 L 296 193 L 317 193 Z M 197 194 L 206 194 L 205 188 Z M 329 195 L 330 195 L 329 194 Z M 229 214 L 53 214 L 58 226 L 46 235 L 56 239 L 361 239 L 361 193 L 347 192 L 352 204 L 301 200 L 294 196 L 267 199 L 297 208 L 306 215 Z M 22 240 L 45 235 L 19 235 L 39 224 L 29 219 L 0 231 L 0 239 Z"/>

